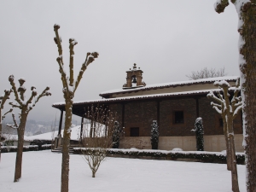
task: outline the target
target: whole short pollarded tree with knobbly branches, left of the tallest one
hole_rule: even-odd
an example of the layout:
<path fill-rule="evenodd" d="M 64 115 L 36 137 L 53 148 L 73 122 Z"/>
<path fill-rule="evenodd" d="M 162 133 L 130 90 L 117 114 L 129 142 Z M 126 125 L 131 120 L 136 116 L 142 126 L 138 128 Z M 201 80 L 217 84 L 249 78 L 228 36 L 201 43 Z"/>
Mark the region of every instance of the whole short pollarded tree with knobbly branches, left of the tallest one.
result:
<path fill-rule="evenodd" d="M 24 95 L 26 92 L 26 88 L 23 85 L 25 83 L 25 79 L 19 79 L 20 87 L 17 89 L 15 85 L 15 77 L 13 75 L 9 76 L 9 83 L 12 86 L 12 90 L 15 93 L 15 101 L 16 103 L 9 102 L 12 108 L 19 108 L 19 119 L 20 124 L 17 123 L 15 120 L 15 113 L 12 113 L 13 125 L 7 125 L 15 130 L 18 133 L 18 147 L 17 147 L 17 154 L 16 154 L 16 163 L 15 163 L 15 182 L 19 181 L 21 177 L 21 164 L 22 164 L 22 152 L 23 152 L 23 143 L 24 143 L 24 133 L 26 127 L 26 118 L 28 113 L 32 110 L 32 108 L 36 105 L 39 99 L 43 96 L 51 96 L 49 92 L 49 87 L 46 87 L 43 92 L 38 96 L 38 92 L 34 86 L 31 87 L 32 93 L 28 100 L 26 100 L 26 96 Z M 19 96 L 20 93 L 20 96 Z M 8 113 L 12 112 L 12 108 L 9 110 Z"/>

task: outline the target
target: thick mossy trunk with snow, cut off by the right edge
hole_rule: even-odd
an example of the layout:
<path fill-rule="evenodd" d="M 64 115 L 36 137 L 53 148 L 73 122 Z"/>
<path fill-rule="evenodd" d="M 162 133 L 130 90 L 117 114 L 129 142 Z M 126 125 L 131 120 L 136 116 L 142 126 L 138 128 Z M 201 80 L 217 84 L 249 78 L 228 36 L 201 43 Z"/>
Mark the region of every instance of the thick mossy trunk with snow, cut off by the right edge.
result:
<path fill-rule="evenodd" d="M 241 38 L 245 44 L 240 54 L 244 63 L 240 63 L 241 95 L 243 96 L 243 134 L 247 167 L 247 191 L 256 191 L 256 1 L 246 3 L 241 12 L 244 21 Z"/>

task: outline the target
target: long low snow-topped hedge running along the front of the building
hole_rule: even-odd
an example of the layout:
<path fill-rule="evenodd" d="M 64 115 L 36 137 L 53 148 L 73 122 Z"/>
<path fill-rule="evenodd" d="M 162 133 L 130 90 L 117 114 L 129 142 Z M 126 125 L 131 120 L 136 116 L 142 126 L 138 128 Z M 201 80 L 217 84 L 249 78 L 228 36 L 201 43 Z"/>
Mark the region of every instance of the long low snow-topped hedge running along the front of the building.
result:
<path fill-rule="evenodd" d="M 85 148 L 73 148 L 73 154 L 81 154 L 81 150 L 85 150 Z M 166 151 L 108 148 L 108 156 L 154 160 L 186 160 L 209 163 L 227 163 L 226 154 L 221 152 L 207 151 Z M 243 153 L 236 153 L 236 163 L 241 165 L 245 164 L 245 155 Z"/>

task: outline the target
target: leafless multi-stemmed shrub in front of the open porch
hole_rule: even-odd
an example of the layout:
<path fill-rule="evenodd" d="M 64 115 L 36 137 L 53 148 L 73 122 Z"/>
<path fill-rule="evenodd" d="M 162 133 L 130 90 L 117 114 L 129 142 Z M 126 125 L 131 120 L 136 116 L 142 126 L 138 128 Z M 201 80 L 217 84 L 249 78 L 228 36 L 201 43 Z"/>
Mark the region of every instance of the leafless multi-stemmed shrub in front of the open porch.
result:
<path fill-rule="evenodd" d="M 110 112 L 103 106 L 88 109 L 85 114 L 86 119 L 90 119 L 90 124 L 86 124 L 82 134 L 82 154 L 84 160 L 90 166 L 92 177 L 102 161 L 108 154 L 108 148 L 113 146 L 113 132 L 118 124 L 116 114 Z M 119 132 L 121 135 L 121 131 Z M 117 141 L 115 141 L 117 142 Z"/>

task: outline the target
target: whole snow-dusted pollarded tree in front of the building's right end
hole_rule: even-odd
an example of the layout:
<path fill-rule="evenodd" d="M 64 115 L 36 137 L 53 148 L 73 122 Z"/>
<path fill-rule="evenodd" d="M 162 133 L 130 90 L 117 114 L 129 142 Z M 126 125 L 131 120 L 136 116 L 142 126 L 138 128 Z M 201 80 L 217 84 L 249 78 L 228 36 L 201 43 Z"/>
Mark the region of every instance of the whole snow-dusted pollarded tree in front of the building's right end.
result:
<path fill-rule="evenodd" d="M 238 175 L 236 167 L 236 148 L 235 148 L 235 139 L 234 139 L 234 129 L 233 129 L 233 120 L 236 118 L 237 114 L 241 110 L 241 96 L 237 96 L 240 92 L 239 88 L 239 79 L 236 80 L 236 89 L 234 90 L 234 96 L 230 102 L 230 84 L 226 81 L 216 81 L 214 83 L 222 92 L 223 95 L 218 91 L 218 96 L 215 96 L 211 91 L 207 97 L 212 98 L 215 102 L 211 102 L 212 108 L 214 108 L 221 116 L 224 121 L 224 136 L 226 138 L 226 148 L 228 157 L 228 162 L 230 158 L 231 166 L 231 177 L 232 177 L 232 190 L 235 192 L 239 191 L 238 185 Z"/>

